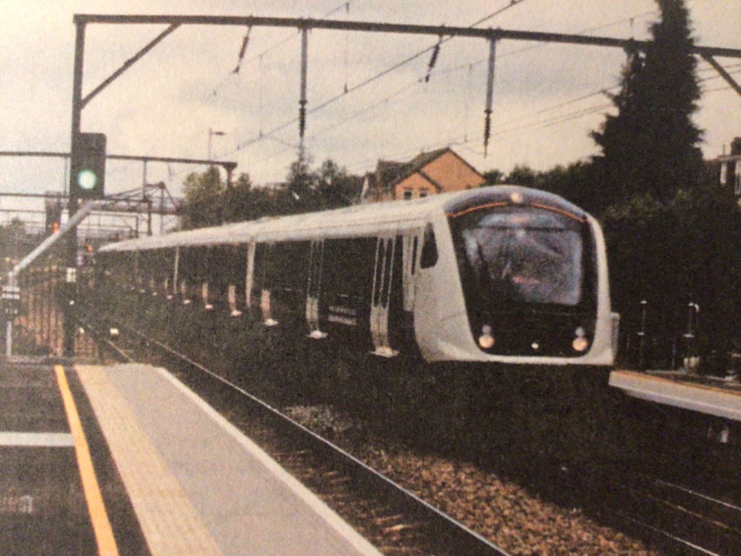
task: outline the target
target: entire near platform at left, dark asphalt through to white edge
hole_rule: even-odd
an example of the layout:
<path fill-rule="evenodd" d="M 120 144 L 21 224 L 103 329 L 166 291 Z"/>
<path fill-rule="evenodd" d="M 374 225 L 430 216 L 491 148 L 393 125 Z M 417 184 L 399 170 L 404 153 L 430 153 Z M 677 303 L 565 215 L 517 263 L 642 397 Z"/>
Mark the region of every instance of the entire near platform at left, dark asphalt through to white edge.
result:
<path fill-rule="evenodd" d="M 0 364 L 0 554 L 379 555 L 148 365 Z"/>

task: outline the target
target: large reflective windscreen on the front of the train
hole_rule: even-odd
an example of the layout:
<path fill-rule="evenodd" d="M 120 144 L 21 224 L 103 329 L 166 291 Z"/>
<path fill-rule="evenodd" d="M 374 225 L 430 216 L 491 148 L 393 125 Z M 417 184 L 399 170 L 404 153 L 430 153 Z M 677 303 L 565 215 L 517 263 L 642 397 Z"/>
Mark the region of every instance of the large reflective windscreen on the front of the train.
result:
<path fill-rule="evenodd" d="M 582 298 L 582 222 L 556 211 L 472 211 L 453 226 L 479 302 L 574 306 Z M 473 283 L 471 283 L 473 282 Z M 465 288 L 468 289 L 468 288 Z"/>

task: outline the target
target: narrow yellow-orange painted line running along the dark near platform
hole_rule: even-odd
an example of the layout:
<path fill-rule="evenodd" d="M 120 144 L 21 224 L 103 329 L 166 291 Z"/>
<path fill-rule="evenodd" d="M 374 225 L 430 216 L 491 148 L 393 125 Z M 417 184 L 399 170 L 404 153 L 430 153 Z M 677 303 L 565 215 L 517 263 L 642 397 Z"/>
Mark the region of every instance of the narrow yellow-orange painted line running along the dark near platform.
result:
<path fill-rule="evenodd" d="M 70 432 L 77 454 L 77 466 L 79 467 L 80 477 L 82 479 L 82 490 L 85 494 L 85 500 L 87 500 L 90 520 L 93 522 L 93 532 L 95 532 L 96 542 L 98 543 L 98 552 L 101 556 L 119 556 L 119 548 L 116 546 L 116 538 L 113 537 L 113 529 L 110 526 L 110 520 L 105 511 L 98 477 L 96 477 L 95 469 L 93 469 L 93 458 L 90 457 L 90 447 L 87 446 L 87 438 L 85 438 L 85 433 L 82 430 L 82 423 L 80 422 L 77 406 L 70 391 L 70 385 L 67 383 L 67 375 L 64 374 L 64 367 L 62 365 L 56 365 L 54 371 L 56 371 L 59 391 L 62 393 L 64 411 L 67 412 L 67 421 L 70 423 Z"/>

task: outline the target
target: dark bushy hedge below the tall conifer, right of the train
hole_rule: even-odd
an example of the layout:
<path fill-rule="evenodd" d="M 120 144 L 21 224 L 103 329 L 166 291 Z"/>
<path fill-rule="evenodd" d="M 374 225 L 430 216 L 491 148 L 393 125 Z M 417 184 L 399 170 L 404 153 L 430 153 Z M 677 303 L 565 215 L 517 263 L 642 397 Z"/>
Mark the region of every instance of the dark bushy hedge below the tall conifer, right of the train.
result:
<path fill-rule="evenodd" d="M 668 356 L 695 302 L 702 351 L 725 352 L 741 339 L 741 211 L 733 199 L 708 186 L 677 193 L 668 204 L 645 193 L 609 208 L 602 223 L 621 328 L 639 329 L 645 300 L 651 339 Z"/>

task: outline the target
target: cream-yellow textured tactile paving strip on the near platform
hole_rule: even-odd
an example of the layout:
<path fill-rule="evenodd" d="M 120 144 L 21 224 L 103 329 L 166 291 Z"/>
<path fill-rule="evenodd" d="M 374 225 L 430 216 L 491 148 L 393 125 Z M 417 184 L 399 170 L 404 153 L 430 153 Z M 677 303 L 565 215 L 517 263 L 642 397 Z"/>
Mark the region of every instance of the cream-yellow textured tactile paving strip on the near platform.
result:
<path fill-rule="evenodd" d="M 104 367 L 76 365 L 153 556 L 222 552 Z"/>

